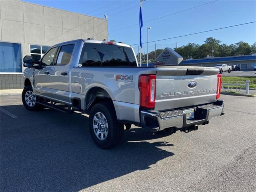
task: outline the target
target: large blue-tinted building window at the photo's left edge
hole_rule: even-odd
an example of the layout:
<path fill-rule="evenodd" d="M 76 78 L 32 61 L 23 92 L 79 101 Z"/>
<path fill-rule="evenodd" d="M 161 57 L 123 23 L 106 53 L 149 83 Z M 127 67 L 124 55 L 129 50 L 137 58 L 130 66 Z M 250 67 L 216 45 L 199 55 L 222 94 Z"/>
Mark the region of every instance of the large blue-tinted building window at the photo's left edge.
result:
<path fill-rule="evenodd" d="M 0 42 L 0 72 L 22 72 L 21 44 Z"/>

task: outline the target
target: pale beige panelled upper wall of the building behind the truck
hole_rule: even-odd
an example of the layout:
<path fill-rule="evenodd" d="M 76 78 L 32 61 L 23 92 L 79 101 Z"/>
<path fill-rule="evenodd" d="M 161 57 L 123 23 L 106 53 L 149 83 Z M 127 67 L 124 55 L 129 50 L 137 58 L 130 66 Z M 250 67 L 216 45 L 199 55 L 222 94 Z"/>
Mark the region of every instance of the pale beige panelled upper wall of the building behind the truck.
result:
<path fill-rule="evenodd" d="M 0 0 L 0 40 L 52 46 L 73 39 L 108 39 L 108 22 L 18 0 Z M 25 44 L 25 45 L 23 45 Z"/>

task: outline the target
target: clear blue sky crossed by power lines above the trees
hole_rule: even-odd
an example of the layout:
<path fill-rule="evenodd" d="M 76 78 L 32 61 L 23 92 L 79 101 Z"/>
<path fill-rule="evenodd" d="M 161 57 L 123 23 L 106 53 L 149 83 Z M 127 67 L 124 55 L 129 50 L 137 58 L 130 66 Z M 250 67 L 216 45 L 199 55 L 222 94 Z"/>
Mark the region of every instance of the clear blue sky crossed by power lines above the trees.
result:
<path fill-rule="evenodd" d="M 122 27 L 138 24 L 139 0 L 23 1 L 101 18 L 106 14 L 109 17 L 109 40 L 115 39 L 116 41 L 122 41 L 127 44 L 137 44 L 139 42 L 139 25 L 116 30 Z M 143 20 L 145 22 L 211 1 L 213 0 L 146 0 L 142 2 Z M 103 6 L 106 7 L 102 8 Z M 118 8 L 119 6 L 121 7 Z M 134 6 L 137 7 L 132 8 Z M 98 8 L 101 9 L 96 10 Z M 131 9 L 121 12 L 129 8 Z M 218 0 L 204 6 L 144 23 L 142 28 L 142 41 L 146 42 L 148 26 L 152 27 L 149 34 L 149 39 L 152 41 L 252 21 L 256 21 L 255 0 Z M 253 44 L 256 42 L 256 23 L 160 41 L 156 42 L 156 48 L 164 48 L 166 46 L 174 48 L 176 47 L 176 42 L 178 46 L 186 45 L 190 42 L 202 44 L 204 43 L 204 40 L 210 36 L 220 39 L 222 43 L 228 45 L 240 40 Z M 154 46 L 155 43 L 149 44 L 150 51 L 154 50 Z M 137 49 L 138 46 L 134 46 L 136 52 Z M 143 51 L 146 52 L 146 44 L 144 44 Z"/>

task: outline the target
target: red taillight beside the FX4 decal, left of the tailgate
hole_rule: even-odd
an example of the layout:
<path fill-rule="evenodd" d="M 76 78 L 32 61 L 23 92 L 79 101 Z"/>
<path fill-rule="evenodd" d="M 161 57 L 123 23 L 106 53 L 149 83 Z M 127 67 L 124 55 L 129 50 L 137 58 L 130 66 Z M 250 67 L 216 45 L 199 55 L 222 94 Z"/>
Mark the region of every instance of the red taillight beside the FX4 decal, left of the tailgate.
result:
<path fill-rule="evenodd" d="M 156 75 L 142 74 L 139 77 L 140 106 L 154 108 L 156 105 Z"/>

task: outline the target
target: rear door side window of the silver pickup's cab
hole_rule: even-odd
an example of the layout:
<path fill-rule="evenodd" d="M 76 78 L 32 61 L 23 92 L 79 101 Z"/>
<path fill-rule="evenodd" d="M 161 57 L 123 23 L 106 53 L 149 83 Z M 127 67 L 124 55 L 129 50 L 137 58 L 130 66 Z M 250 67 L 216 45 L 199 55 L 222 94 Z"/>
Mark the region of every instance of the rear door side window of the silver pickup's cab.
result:
<path fill-rule="evenodd" d="M 75 44 L 61 46 L 56 65 L 66 65 L 70 62 Z"/>

